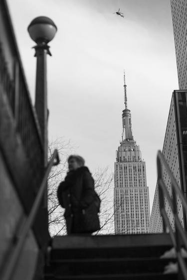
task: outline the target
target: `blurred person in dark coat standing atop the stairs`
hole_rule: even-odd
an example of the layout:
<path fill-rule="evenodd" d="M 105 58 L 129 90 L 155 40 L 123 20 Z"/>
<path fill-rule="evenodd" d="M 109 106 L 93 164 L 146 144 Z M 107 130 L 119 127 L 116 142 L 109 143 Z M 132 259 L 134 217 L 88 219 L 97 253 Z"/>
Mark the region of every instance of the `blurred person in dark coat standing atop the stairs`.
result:
<path fill-rule="evenodd" d="M 65 208 L 67 234 L 93 233 L 100 229 L 100 198 L 94 190 L 94 179 L 79 155 L 68 158 L 69 171 L 57 190 L 60 205 Z"/>

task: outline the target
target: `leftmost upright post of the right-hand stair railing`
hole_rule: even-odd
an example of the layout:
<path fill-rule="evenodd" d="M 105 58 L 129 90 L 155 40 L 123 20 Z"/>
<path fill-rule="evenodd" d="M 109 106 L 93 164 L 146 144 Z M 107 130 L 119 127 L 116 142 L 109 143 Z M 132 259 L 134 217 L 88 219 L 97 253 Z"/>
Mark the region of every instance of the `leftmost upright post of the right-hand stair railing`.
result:
<path fill-rule="evenodd" d="M 162 166 L 161 166 L 161 159 L 159 157 L 159 153 L 157 155 L 157 171 L 158 171 L 159 206 L 160 206 L 160 213 L 162 213 L 162 209 L 164 209 L 164 195 L 163 195 L 162 188 L 160 186 L 160 179 L 162 179 Z M 164 219 L 163 219 L 163 230 L 164 232 L 166 232 L 166 223 Z"/>

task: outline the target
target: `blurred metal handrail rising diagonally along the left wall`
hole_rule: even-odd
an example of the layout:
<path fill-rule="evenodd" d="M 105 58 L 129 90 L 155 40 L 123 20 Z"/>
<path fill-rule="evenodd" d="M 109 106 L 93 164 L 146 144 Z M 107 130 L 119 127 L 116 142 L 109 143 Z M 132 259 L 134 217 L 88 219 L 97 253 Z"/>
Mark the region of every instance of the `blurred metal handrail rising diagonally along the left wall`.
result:
<path fill-rule="evenodd" d="M 39 187 L 39 191 L 36 195 L 36 198 L 35 198 L 35 201 L 32 205 L 32 208 L 31 208 L 31 211 L 25 221 L 25 224 L 23 225 L 23 229 L 21 230 L 21 233 L 19 236 L 16 237 L 16 245 L 15 245 L 15 248 L 10 256 L 10 259 L 8 260 L 7 262 L 7 266 L 5 267 L 5 270 L 4 270 L 4 274 L 1 278 L 1 280 L 10 280 L 10 277 L 13 273 L 13 269 L 16 265 L 16 262 L 17 262 L 17 259 L 18 259 L 18 256 L 21 252 L 21 249 L 23 247 L 23 244 L 24 244 L 24 241 L 25 241 L 25 238 L 28 234 L 28 231 L 30 230 L 33 222 L 34 222 L 34 218 L 35 218 L 35 215 L 37 213 L 37 210 L 38 210 L 38 207 L 40 205 L 40 202 L 41 202 L 41 199 L 42 199 L 42 196 L 43 196 L 43 193 L 44 193 L 44 190 L 46 188 L 46 182 L 47 182 L 47 178 L 48 178 L 48 175 L 49 175 L 49 172 L 52 168 L 52 166 L 54 165 L 57 165 L 59 163 L 59 155 L 58 155 L 58 151 L 57 149 L 54 150 L 52 156 L 51 156 L 51 159 L 47 165 L 47 168 L 45 170 L 45 174 L 43 176 L 43 179 L 42 179 L 42 182 L 41 182 L 41 185 Z"/>

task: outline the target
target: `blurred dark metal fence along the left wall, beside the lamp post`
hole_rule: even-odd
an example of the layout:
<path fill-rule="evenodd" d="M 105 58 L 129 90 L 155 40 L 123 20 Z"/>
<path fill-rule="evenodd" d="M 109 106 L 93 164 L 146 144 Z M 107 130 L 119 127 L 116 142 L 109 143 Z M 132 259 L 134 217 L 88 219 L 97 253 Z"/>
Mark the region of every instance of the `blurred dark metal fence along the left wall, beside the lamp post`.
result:
<path fill-rule="evenodd" d="M 14 73 L 14 79 L 11 80 L 3 49 L 0 45 L 0 86 L 3 94 L 7 96 L 30 170 L 35 182 L 38 184 L 41 180 L 44 166 L 40 129 L 19 62 L 15 62 Z"/>

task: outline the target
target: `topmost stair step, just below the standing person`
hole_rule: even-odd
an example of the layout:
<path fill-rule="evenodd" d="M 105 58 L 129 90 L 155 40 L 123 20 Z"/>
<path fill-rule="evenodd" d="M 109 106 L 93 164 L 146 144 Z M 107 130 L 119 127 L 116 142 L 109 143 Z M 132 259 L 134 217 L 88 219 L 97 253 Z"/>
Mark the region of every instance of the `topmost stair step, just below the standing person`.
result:
<path fill-rule="evenodd" d="M 172 247 L 168 234 L 60 236 L 52 240 L 51 259 L 160 257 Z"/>

